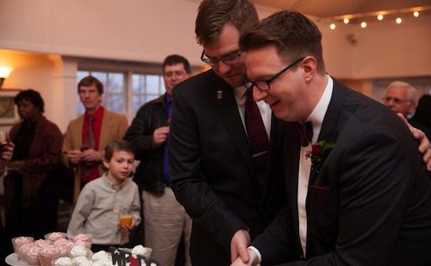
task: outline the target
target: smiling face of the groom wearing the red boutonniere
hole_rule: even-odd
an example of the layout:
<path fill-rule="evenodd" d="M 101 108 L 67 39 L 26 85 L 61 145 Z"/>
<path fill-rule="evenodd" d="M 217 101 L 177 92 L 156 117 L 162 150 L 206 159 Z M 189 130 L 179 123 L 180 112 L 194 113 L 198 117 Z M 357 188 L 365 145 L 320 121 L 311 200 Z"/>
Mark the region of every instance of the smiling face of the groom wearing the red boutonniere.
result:
<path fill-rule="evenodd" d="M 254 87 L 253 98 L 265 100 L 279 119 L 289 122 L 305 121 L 313 108 L 312 101 L 309 100 L 311 93 L 306 90 L 309 73 L 304 66 L 305 61 L 298 62 L 270 82 L 270 90 L 261 91 Z M 247 76 L 252 82 L 268 80 L 293 62 L 284 63 L 274 46 L 248 51 L 245 58 Z"/>

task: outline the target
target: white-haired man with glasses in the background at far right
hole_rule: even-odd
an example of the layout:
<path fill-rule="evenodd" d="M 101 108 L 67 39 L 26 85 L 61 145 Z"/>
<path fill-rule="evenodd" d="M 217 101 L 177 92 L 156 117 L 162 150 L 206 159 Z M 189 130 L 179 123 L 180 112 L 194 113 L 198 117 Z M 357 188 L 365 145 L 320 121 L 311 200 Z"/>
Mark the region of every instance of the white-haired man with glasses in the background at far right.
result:
<path fill-rule="evenodd" d="M 409 116 L 415 112 L 418 98 L 417 90 L 408 82 L 395 81 L 389 84 L 384 93 L 383 103 L 390 107 L 392 111 L 400 113 L 408 119 L 409 124 L 423 131 L 427 138 L 431 138 L 431 129 L 414 120 L 410 120 Z M 431 116 L 431 114 L 430 114 Z"/>

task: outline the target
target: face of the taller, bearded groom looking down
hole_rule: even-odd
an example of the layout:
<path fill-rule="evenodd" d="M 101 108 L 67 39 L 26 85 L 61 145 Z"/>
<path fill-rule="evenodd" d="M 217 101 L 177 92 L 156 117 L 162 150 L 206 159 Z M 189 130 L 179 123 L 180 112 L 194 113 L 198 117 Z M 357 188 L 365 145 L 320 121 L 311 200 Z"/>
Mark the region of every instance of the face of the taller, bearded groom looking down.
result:
<path fill-rule="evenodd" d="M 240 32 L 232 24 L 224 25 L 223 30 L 216 41 L 204 45 L 204 53 L 208 57 L 220 58 L 226 55 L 231 55 L 233 52 L 238 51 L 240 41 Z M 217 64 L 211 66 L 216 74 L 229 83 L 232 87 L 242 86 L 246 80 L 244 55 L 240 56 L 238 62 L 234 64 L 225 64 L 219 61 Z"/>

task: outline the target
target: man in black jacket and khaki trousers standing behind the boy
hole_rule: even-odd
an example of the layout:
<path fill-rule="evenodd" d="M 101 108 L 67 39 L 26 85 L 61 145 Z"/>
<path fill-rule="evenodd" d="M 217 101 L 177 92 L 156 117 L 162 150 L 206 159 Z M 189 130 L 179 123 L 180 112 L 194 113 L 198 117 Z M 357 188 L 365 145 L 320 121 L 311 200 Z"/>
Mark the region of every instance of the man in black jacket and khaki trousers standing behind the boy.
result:
<path fill-rule="evenodd" d="M 177 90 L 177 84 L 189 78 L 191 68 L 189 61 L 178 55 L 167 56 L 162 67 L 166 92 L 139 108 L 124 139 L 134 144 L 136 159 L 140 160 L 134 181 L 142 193 L 145 246 L 153 248 L 152 257 L 160 265 L 173 266 L 183 241 L 185 253 L 180 257 L 184 257 L 185 262 L 180 264 L 191 266 L 191 219 L 176 201 L 170 187 L 167 145 L 172 117 L 172 90 Z"/>

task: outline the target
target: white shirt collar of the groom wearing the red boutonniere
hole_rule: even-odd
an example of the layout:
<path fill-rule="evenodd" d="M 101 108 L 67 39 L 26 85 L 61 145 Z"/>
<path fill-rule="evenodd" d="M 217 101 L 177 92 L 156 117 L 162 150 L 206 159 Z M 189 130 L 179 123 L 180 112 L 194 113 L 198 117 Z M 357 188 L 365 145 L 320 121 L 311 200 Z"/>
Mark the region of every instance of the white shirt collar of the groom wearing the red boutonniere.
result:
<path fill-rule="evenodd" d="M 325 117 L 328 106 L 330 105 L 330 99 L 332 97 L 334 81 L 329 75 L 327 75 L 327 77 L 328 82 L 323 94 L 321 95 L 321 99 L 317 103 L 316 107 L 314 107 L 312 110 L 312 114 L 307 119 L 307 121 L 312 122 L 312 143 L 315 143 L 318 140 L 319 133 L 321 133 L 321 124 L 323 123 L 323 118 Z"/>

